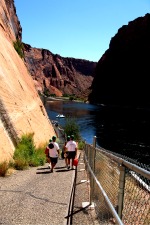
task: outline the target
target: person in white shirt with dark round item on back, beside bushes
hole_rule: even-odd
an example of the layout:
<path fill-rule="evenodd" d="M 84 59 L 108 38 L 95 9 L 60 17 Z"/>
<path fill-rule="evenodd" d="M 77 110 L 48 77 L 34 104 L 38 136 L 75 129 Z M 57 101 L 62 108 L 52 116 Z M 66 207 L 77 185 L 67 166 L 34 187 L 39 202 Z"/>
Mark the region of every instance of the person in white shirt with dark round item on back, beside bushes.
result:
<path fill-rule="evenodd" d="M 58 162 L 58 157 L 60 153 L 59 145 L 56 142 L 55 136 L 52 137 L 52 142 L 49 143 L 48 148 L 49 148 L 49 157 L 51 162 L 50 172 L 53 173 L 53 169 Z"/>

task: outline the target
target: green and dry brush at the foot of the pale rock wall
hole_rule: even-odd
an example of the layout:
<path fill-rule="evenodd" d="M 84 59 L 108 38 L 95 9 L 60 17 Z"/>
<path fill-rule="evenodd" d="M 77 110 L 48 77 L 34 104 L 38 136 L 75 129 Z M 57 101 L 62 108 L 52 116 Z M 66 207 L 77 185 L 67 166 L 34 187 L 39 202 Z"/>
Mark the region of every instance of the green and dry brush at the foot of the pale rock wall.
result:
<path fill-rule="evenodd" d="M 0 176 L 11 174 L 13 169 L 24 170 L 44 165 L 46 162 L 45 147 L 46 144 L 38 148 L 35 147 L 33 134 L 23 135 L 15 149 L 13 161 L 5 161 L 0 164 Z"/>

